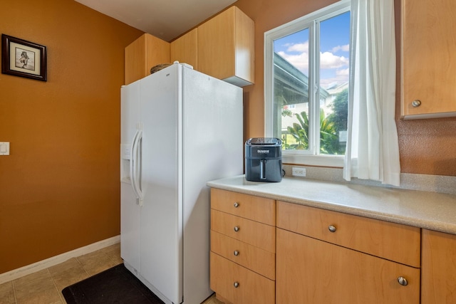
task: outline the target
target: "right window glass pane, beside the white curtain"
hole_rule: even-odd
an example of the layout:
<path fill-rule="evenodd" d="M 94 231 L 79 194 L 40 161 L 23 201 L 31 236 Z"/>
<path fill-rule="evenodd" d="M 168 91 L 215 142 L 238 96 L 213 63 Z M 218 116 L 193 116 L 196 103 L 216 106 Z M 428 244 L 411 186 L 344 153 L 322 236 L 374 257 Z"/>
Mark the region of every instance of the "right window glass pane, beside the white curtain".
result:
<path fill-rule="evenodd" d="M 345 154 L 350 12 L 320 23 L 320 154 Z"/>

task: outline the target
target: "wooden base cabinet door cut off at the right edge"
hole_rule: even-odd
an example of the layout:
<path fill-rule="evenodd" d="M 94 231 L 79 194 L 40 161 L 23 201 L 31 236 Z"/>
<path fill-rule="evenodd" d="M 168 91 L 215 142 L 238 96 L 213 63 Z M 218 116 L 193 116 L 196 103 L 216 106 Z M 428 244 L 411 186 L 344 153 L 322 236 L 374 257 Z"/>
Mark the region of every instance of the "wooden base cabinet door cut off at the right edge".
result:
<path fill-rule="evenodd" d="M 421 303 L 456 303 L 456 236 L 423 229 Z"/>

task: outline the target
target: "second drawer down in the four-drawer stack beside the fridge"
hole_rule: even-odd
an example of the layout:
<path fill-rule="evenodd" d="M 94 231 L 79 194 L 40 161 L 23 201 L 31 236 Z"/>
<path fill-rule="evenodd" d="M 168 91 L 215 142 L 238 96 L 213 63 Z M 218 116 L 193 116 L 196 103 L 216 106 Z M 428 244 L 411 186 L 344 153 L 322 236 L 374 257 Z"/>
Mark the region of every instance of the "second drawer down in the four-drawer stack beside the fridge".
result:
<path fill-rule="evenodd" d="M 266 251 L 276 252 L 276 227 L 211 209 L 211 229 Z"/>

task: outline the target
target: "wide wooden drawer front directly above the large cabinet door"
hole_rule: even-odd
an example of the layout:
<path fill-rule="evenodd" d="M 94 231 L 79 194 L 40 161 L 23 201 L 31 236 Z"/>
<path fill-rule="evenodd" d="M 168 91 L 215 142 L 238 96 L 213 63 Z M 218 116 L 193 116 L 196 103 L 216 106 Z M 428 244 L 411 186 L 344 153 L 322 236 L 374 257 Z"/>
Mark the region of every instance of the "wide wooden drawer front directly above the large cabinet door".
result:
<path fill-rule="evenodd" d="M 330 226 L 336 229 L 330 231 Z M 299 204 L 277 202 L 277 227 L 420 267 L 420 229 Z"/>

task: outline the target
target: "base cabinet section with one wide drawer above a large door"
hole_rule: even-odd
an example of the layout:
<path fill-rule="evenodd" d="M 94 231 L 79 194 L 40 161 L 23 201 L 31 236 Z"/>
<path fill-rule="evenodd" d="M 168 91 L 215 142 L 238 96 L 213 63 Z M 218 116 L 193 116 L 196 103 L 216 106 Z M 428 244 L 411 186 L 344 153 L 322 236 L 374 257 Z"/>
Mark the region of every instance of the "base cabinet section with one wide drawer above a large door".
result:
<path fill-rule="evenodd" d="M 276 206 L 276 303 L 420 303 L 420 229 Z"/>

